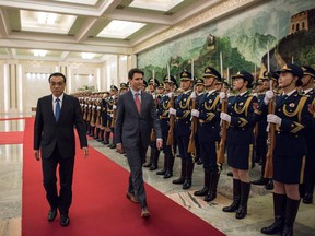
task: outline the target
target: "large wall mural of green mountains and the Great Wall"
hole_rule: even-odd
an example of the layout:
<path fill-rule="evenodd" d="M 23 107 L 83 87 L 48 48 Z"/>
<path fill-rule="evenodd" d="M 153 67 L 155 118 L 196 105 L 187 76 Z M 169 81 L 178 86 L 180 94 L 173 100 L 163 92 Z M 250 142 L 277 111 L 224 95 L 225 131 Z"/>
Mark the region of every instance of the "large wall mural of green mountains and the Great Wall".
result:
<path fill-rule="evenodd" d="M 315 66 L 314 1 L 265 1 L 140 52 L 138 67 L 145 79 L 154 73 L 159 81 L 167 74 L 167 63 L 177 81 L 183 70 L 191 72 L 191 63 L 196 78 L 210 66 L 224 78 L 246 70 L 258 79 L 268 68 L 267 51 L 271 71 L 288 62 Z"/>

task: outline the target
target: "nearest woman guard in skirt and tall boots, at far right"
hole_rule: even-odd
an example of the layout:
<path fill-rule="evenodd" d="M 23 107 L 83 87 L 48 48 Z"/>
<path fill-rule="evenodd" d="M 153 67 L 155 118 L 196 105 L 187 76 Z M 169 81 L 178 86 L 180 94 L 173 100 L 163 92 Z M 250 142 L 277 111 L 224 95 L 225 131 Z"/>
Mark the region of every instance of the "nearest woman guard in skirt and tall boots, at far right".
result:
<path fill-rule="evenodd" d="M 303 182 L 304 176 L 305 131 L 311 128 L 312 116 L 307 110 L 307 97 L 296 91 L 296 86 L 302 85 L 303 70 L 288 63 L 279 73 L 279 87 L 283 94 L 276 97 L 275 114 L 267 115 L 267 122 L 276 126 L 272 157 L 275 222 L 261 228 L 261 233 L 291 236 L 301 199 L 299 184 Z M 273 92 L 268 91 L 259 105 L 261 114 L 267 113 L 272 97 Z"/>

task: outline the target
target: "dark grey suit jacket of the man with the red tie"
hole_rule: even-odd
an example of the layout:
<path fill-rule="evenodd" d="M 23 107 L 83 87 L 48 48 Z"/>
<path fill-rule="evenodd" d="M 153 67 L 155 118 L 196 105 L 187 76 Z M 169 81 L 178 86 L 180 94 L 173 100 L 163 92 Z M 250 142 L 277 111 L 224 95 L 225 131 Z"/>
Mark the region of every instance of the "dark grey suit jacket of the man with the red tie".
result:
<path fill-rule="evenodd" d="M 117 103 L 116 143 L 132 148 L 138 144 L 140 138 L 142 148 L 148 148 L 152 127 L 155 137 L 162 139 L 156 107 L 151 94 L 141 92 L 140 115 L 131 91 L 119 96 Z"/>

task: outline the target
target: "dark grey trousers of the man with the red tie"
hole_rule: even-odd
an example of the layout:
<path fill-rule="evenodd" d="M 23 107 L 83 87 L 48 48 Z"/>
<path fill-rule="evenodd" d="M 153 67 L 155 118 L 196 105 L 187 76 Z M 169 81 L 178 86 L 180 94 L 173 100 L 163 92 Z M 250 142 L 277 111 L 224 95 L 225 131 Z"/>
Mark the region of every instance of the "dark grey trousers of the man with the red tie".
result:
<path fill-rule="evenodd" d="M 125 146 L 125 151 L 130 167 L 128 192 L 135 193 L 142 209 L 147 208 L 147 196 L 142 172 L 142 164 L 145 160 L 147 148 L 143 148 L 139 141 L 138 145 L 136 146 Z"/>

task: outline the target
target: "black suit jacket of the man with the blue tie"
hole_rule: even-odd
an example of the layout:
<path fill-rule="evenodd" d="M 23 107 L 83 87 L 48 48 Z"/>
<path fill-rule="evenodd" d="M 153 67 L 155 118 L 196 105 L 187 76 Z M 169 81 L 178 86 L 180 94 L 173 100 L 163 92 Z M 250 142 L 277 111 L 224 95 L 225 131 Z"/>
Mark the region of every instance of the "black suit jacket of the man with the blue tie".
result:
<path fill-rule="evenodd" d="M 34 125 L 34 150 L 42 149 L 42 158 L 49 158 L 56 144 L 65 158 L 74 157 L 77 128 L 81 148 L 88 146 L 86 131 L 78 98 L 63 94 L 58 122 L 52 110 L 52 95 L 38 99 Z"/>

